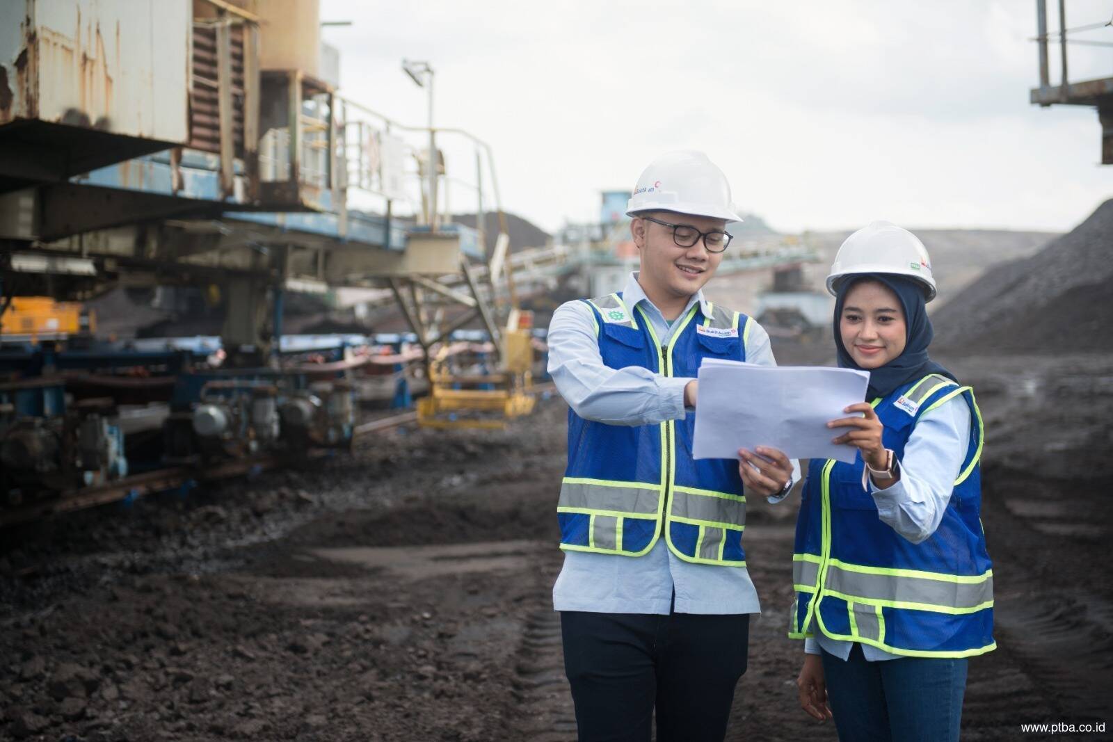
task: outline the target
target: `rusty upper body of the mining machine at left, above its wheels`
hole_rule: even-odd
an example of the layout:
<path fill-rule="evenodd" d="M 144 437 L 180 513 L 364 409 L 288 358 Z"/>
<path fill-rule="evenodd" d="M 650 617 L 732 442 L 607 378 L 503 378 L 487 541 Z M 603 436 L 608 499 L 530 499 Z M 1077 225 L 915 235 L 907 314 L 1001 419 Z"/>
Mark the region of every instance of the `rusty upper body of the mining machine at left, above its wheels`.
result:
<path fill-rule="evenodd" d="M 429 191 L 443 165 L 431 171 L 427 151 L 406 141 L 431 127 L 403 126 L 317 77 L 316 8 L 313 0 L 0 7 L 8 286 L 28 293 L 52 275 L 59 298 L 81 298 L 121 276 L 132 285 L 218 281 L 237 303 L 228 345 L 254 352 L 245 363 L 266 362 L 264 308 L 287 286 L 390 286 L 423 345 L 443 328 L 417 305 L 460 299 L 496 340 L 492 291 L 481 296 L 469 278 L 486 261 L 480 235 L 440 225 Z M 439 131 L 473 139 L 496 184 L 490 148 Z M 418 207 L 416 231 L 395 215 L 403 200 Z M 50 269 L 21 269 L 31 255 L 49 256 Z M 446 275 L 466 291 L 440 290 Z"/>

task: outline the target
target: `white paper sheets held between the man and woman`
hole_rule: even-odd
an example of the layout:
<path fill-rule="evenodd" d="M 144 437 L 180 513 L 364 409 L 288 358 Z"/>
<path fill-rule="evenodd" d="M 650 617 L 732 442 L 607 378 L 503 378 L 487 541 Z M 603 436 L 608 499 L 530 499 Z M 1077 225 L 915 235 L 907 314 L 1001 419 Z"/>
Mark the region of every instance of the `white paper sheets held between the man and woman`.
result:
<path fill-rule="evenodd" d="M 869 374 L 853 368 L 756 366 L 708 358 L 699 369 L 696 458 L 738 458 L 738 449 L 770 446 L 789 458 L 854 462 L 857 448 L 834 444 L 847 428 L 828 421 L 866 397 Z M 859 413 L 860 414 L 860 413 Z"/>

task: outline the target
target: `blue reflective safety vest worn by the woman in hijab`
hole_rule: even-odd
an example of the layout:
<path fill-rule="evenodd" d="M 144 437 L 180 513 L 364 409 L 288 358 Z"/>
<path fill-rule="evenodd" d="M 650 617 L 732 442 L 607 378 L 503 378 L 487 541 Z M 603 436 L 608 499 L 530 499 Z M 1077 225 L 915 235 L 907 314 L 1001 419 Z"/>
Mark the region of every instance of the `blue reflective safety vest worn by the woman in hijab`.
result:
<path fill-rule="evenodd" d="M 969 387 L 926 376 L 875 400 L 881 441 L 899 459 L 919 418 L 962 396 L 971 438 L 943 521 L 914 544 L 877 514 L 861 485 L 863 461 L 812 459 L 804 485 L 792 550 L 789 636 L 816 631 L 894 654 L 965 657 L 993 641 L 993 570 L 979 517 L 982 414 Z"/>

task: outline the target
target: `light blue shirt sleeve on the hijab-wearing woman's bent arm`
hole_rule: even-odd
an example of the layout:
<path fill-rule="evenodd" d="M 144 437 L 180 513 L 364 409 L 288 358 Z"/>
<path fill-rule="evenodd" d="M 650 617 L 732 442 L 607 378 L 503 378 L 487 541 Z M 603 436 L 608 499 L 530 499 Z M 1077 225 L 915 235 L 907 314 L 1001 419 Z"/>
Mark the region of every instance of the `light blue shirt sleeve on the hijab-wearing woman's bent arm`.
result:
<path fill-rule="evenodd" d="M 962 395 L 924 413 L 900 457 L 900 479 L 879 489 L 873 477 L 866 477 L 881 522 L 914 544 L 935 533 L 966 458 L 969 435 L 971 412 Z"/>

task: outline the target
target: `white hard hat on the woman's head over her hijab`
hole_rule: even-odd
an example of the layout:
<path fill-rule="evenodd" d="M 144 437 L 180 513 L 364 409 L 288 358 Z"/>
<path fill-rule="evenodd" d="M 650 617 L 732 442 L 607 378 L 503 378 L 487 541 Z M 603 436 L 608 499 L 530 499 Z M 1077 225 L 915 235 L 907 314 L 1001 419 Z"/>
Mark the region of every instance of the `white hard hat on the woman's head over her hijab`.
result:
<path fill-rule="evenodd" d="M 927 248 L 916 235 L 892 221 L 873 221 L 846 238 L 827 276 L 827 290 L 838 296 L 840 278 L 865 273 L 907 276 L 924 285 L 928 301 L 935 298 Z"/>

